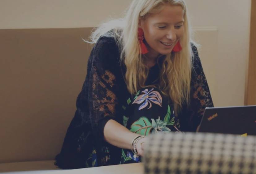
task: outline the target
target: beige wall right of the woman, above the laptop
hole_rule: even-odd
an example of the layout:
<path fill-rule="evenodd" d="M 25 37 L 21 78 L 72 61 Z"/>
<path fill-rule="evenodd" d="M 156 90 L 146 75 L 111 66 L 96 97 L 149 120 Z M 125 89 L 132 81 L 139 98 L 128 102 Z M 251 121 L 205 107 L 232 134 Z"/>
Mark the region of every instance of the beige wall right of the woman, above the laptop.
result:
<path fill-rule="evenodd" d="M 215 83 L 213 99 L 215 106 L 244 104 L 245 72 L 249 56 L 250 0 L 185 0 L 190 17 L 197 30 L 217 28 L 217 53 L 201 56 L 203 67 L 211 68 L 206 76 Z M 212 40 L 198 36 L 204 43 L 202 51 L 209 50 Z M 216 39 L 213 40 L 216 42 Z M 199 41 L 200 43 L 200 41 Z M 213 68 L 214 67 L 214 68 Z"/>

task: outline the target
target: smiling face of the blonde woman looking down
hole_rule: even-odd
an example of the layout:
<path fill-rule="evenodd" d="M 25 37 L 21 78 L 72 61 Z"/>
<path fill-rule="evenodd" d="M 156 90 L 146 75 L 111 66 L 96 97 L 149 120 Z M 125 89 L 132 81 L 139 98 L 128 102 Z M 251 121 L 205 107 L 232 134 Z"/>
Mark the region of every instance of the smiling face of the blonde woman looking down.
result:
<path fill-rule="evenodd" d="M 164 5 L 157 14 L 148 14 L 140 20 L 139 27 L 144 31 L 146 46 L 149 50 L 147 56 L 157 57 L 159 54 L 171 53 L 173 47 L 182 37 L 183 9 L 181 6 Z"/>

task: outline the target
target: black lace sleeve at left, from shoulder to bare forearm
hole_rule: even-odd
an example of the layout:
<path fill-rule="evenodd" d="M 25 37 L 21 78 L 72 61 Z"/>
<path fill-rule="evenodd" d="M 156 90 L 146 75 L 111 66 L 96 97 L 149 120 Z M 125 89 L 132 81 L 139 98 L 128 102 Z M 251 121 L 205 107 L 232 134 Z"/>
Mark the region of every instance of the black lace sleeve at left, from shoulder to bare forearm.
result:
<path fill-rule="evenodd" d="M 116 117 L 119 89 L 117 72 L 120 69 L 118 57 L 115 42 L 107 39 L 98 43 L 92 56 L 88 104 L 92 128 L 99 129 L 101 138 L 106 121 Z"/>

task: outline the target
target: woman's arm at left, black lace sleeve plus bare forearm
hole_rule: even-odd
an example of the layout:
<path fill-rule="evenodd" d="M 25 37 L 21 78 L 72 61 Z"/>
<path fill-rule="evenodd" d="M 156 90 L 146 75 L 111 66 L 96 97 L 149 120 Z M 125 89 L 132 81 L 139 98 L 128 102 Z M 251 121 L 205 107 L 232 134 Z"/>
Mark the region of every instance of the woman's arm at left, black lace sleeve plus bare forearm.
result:
<path fill-rule="evenodd" d="M 116 106 L 122 96 L 120 88 L 124 88 L 119 56 L 114 38 L 102 38 L 95 47 L 88 97 L 90 118 L 98 143 L 105 140 L 118 148 L 131 149 L 132 140 L 139 134 L 115 121 L 118 120 Z M 140 144 L 143 139 L 136 144 L 139 155 L 143 154 Z"/>

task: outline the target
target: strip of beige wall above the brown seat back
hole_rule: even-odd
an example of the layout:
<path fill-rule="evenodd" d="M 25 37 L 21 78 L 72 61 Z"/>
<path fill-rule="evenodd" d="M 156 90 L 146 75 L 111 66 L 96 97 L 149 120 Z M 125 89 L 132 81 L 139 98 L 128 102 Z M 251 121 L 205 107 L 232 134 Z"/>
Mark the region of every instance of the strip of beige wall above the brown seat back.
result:
<path fill-rule="evenodd" d="M 0 29 L 94 27 L 131 0 L 0 0 Z"/>

